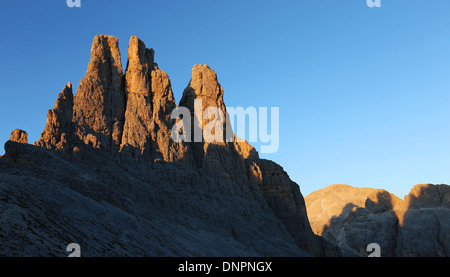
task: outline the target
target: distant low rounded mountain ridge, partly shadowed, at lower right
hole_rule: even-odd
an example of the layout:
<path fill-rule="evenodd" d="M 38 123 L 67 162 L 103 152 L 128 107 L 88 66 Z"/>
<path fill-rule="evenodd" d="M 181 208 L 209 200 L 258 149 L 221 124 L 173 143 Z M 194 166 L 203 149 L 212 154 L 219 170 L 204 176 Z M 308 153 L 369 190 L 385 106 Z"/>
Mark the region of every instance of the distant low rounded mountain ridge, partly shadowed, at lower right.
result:
<path fill-rule="evenodd" d="M 315 234 L 346 256 L 450 256 L 450 186 L 417 185 L 404 200 L 380 189 L 333 185 L 305 197 Z"/>

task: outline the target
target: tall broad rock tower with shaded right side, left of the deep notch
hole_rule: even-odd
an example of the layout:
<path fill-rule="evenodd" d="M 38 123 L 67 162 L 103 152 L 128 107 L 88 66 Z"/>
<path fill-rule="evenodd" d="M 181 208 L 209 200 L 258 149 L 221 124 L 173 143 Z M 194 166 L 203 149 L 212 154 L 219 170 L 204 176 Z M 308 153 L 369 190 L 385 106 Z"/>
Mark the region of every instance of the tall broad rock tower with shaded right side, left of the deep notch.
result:
<path fill-rule="evenodd" d="M 75 135 L 94 148 L 118 150 L 123 132 L 125 94 L 119 40 L 94 38 L 91 60 L 74 97 Z"/>

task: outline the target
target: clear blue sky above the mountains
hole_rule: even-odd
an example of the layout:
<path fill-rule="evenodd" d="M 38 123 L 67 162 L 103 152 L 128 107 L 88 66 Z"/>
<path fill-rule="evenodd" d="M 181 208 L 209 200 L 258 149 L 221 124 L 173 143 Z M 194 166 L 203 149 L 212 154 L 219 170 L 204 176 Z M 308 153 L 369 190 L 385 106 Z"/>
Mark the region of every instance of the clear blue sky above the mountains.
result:
<path fill-rule="evenodd" d="M 331 184 L 450 183 L 450 1 L 3 1 L 0 142 L 39 139 L 58 93 L 78 86 L 96 34 L 156 51 L 176 101 L 194 64 L 228 106 L 280 108 L 279 163 L 306 196 Z M 3 154 L 3 148 L 0 154 Z"/>

